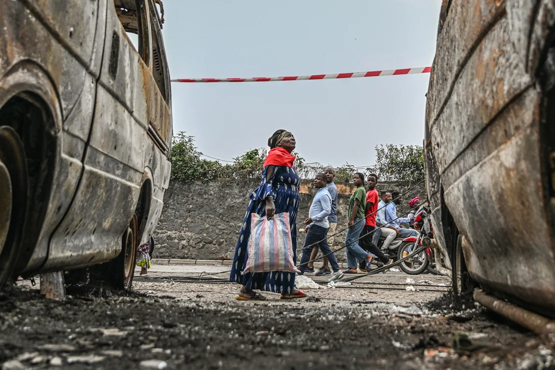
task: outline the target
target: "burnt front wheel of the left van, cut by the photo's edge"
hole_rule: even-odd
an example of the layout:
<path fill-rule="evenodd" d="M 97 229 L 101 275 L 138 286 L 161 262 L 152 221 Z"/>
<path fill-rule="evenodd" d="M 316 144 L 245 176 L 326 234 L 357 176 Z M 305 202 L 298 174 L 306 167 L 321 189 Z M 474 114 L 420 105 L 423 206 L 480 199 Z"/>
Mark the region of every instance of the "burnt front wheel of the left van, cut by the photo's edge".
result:
<path fill-rule="evenodd" d="M 27 160 L 16 131 L 0 126 L 0 288 L 12 277 L 27 212 Z"/>

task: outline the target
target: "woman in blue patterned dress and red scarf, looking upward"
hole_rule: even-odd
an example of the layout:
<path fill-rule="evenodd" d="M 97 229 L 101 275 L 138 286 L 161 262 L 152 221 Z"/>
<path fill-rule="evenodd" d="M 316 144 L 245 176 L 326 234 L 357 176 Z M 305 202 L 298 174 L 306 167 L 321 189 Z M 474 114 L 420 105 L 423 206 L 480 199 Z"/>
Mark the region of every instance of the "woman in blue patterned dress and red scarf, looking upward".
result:
<path fill-rule="evenodd" d="M 262 181 L 258 189 L 250 195 L 249 207 L 241 225 L 239 241 L 235 248 L 233 266 L 229 281 L 242 285 L 238 300 L 265 300 L 266 297 L 254 290 L 264 290 L 281 293 L 281 298 L 305 297 L 305 293 L 295 288 L 294 272 L 255 272 L 241 273 L 246 268 L 248 260 L 248 240 L 250 236 L 251 214 L 271 218 L 274 214 L 289 213 L 291 226 L 291 241 L 293 245 L 293 262 L 297 262 L 297 229 L 296 218 L 299 210 L 300 179 L 293 163 L 295 156 L 291 155 L 296 141 L 293 134 L 286 130 L 278 130 L 268 139 L 270 151 L 264 161 Z"/>

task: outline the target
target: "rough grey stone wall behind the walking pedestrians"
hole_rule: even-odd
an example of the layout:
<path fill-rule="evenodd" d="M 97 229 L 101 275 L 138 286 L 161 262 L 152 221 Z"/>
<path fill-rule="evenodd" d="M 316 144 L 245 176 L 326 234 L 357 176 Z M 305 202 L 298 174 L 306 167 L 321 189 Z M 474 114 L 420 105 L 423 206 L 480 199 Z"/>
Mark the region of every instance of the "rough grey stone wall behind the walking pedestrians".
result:
<path fill-rule="evenodd" d="M 260 184 L 259 180 L 218 180 L 211 182 L 196 181 L 184 184 L 171 181 L 164 195 L 164 209 L 154 235 L 156 247 L 154 258 L 188 260 L 225 260 L 233 259 L 239 228 L 243 223 L 250 193 Z M 403 196 L 400 212 L 408 210 L 408 200 L 418 195 L 425 199 L 422 183 L 410 194 Z M 380 183 L 378 190 L 397 189 L 405 191 L 411 184 Z M 354 191 L 351 184 L 337 184 L 340 192 L 338 199 L 339 225 L 344 228 L 347 222 L 349 198 Z M 297 230 L 303 227 L 302 221 L 308 217 L 315 189 L 309 180 L 303 180 L 300 187 L 300 207 L 297 216 Z M 346 193 L 346 194 L 345 194 Z M 297 246 L 302 246 L 304 233 L 297 233 Z M 336 236 L 335 245 L 342 246 L 345 232 Z M 345 253 L 339 252 L 340 260 Z"/>

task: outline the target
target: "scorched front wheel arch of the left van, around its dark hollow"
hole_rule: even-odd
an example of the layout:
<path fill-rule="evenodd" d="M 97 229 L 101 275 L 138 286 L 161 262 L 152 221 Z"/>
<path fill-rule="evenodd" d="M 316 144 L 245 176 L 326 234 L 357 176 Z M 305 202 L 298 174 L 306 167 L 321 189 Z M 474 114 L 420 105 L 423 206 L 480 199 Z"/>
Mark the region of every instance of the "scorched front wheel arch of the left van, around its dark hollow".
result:
<path fill-rule="evenodd" d="M 0 95 L 2 125 L 11 126 L 23 136 L 27 160 L 35 161 L 41 169 L 29 167 L 27 170 L 29 199 L 23 225 L 26 239 L 21 244 L 17 272 L 31 259 L 46 217 L 61 153 L 62 107 L 52 78 L 31 60 L 13 65 L 0 77 L 0 88 L 3 90 Z M 33 133 L 34 139 L 29 139 L 28 132 Z"/>

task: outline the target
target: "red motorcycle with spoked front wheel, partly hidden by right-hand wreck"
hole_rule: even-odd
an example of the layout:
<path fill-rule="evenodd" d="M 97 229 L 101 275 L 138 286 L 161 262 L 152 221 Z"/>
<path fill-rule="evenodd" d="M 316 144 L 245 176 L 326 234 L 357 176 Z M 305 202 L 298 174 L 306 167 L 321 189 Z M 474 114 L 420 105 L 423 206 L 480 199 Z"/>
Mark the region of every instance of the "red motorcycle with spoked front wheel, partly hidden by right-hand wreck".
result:
<path fill-rule="evenodd" d="M 433 238 L 432 221 L 430 211 L 426 207 L 421 207 L 415 216 L 415 229 L 418 236 L 407 237 L 398 249 L 397 259 L 403 259 L 410 255 L 412 251 L 417 250 L 420 246 L 429 246 L 431 238 Z M 426 248 L 410 259 L 400 263 L 399 267 L 409 275 L 420 275 L 422 272 L 428 272 L 437 275 L 436 260 L 433 249 Z"/>

